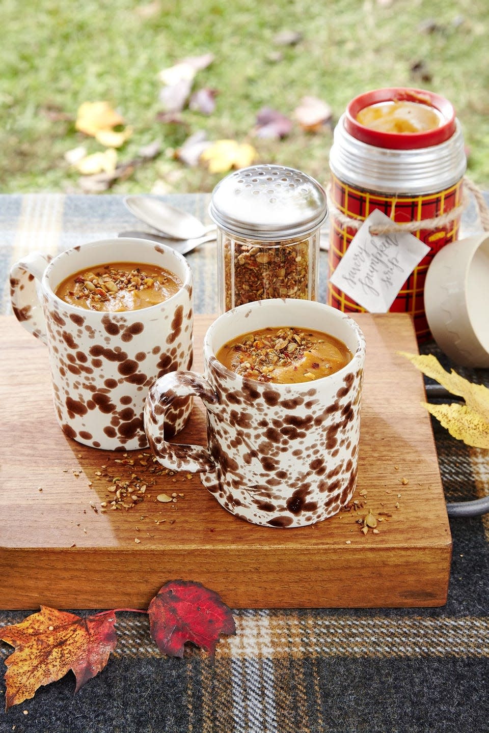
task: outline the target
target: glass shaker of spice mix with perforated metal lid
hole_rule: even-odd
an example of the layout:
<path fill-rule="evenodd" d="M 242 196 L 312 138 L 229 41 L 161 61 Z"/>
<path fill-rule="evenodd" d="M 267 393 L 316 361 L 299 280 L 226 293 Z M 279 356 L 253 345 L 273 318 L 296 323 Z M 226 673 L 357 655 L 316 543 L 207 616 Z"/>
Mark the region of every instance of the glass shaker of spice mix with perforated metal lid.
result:
<path fill-rule="evenodd" d="M 315 301 L 326 191 L 293 168 L 259 165 L 213 190 L 219 311 L 265 298 Z"/>

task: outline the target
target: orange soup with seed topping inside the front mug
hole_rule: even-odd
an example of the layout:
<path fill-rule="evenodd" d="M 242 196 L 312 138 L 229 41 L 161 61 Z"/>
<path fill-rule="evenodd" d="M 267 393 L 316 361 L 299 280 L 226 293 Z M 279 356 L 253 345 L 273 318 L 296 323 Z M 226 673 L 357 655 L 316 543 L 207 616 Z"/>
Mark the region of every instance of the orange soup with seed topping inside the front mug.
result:
<path fill-rule="evenodd" d="M 322 331 L 280 326 L 237 336 L 216 357 L 243 377 L 290 384 L 334 374 L 352 354 L 342 341 Z"/>

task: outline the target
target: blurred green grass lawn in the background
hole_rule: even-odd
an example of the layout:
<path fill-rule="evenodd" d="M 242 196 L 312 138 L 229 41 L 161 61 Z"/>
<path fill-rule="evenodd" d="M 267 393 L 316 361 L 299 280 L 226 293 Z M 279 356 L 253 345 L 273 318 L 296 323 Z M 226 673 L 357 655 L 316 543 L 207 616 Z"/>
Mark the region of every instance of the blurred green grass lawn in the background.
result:
<path fill-rule="evenodd" d="M 192 169 L 172 151 L 196 130 L 209 139 L 247 139 L 261 162 L 294 166 L 325 181 L 331 129 L 318 134 L 298 125 L 282 141 L 251 138 L 264 105 L 291 115 L 304 95 L 331 105 L 336 122 L 351 97 L 379 86 L 433 89 L 455 105 L 468 147 L 468 174 L 489 185 L 489 33 L 486 0 L 161 0 L 160 11 L 141 18 L 129 0 L 3 0 L 0 23 L 0 190 L 77 191 L 78 174 L 63 155 L 86 144 L 74 128 L 84 101 L 108 100 L 134 128 L 120 161 L 160 139 L 161 155 L 139 167 L 111 191 L 210 191 L 221 175 Z M 434 32 L 420 23 L 433 18 Z M 302 41 L 276 47 L 283 29 Z M 271 51 L 283 58 L 272 62 Z M 194 88 L 219 90 L 216 111 L 205 117 L 185 110 L 185 125 L 164 125 L 156 116 L 158 72 L 183 56 L 213 52 L 216 59 L 196 76 Z M 431 81 L 411 73 L 423 61 Z M 70 119 L 51 119 L 49 109 Z"/>

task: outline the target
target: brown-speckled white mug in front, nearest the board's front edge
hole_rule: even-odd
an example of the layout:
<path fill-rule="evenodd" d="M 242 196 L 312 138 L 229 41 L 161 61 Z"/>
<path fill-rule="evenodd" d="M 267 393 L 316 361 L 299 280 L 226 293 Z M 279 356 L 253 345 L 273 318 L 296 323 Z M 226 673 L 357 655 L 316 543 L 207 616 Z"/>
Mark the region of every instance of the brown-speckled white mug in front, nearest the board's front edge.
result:
<path fill-rule="evenodd" d="M 314 328 L 353 354 L 345 367 L 307 383 L 262 383 L 224 367 L 216 353 L 235 336 L 268 326 Z M 202 484 L 232 514 L 269 527 L 300 527 L 336 514 L 356 485 L 365 339 L 348 315 L 323 303 L 267 300 L 219 317 L 204 339 L 204 375 L 173 372 L 148 393 L 144 424 L 160 463 L 200 471 Z M 207 446 L 167 443 L 175 401 L 197 395 L 207 413 Z"/>

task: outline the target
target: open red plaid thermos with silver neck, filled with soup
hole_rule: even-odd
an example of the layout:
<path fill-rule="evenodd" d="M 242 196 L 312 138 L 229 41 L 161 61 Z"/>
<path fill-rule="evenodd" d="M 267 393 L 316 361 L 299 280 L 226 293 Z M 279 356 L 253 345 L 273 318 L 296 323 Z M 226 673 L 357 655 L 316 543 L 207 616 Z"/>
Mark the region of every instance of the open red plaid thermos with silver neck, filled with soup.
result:
<path fill-rule="evenodd" d="M 430 251 L 389 310 L 410 313 L 418 339 L 427 339 L 427 269 L 457 238 L 463 210 L 466 155 L 452 104 L 421 89 L 376 89 L 355 97 L 334 130 L 329 166 L 329 275 L 373 210 L 391 218 L 392 231 L 404 224 Z M 328 303 L 345 312 L 364 310 L 331 282 Z"/>

